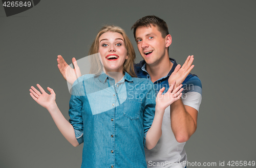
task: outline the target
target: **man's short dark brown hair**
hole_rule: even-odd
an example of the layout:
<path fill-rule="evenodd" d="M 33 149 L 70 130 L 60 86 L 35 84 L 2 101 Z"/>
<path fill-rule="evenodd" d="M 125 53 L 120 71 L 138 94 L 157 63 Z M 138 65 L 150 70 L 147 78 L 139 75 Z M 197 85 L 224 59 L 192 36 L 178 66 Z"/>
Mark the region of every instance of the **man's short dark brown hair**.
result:
<path fill-rule="evenodd" d="M 151 25 L 158 27 L 158 31 L 161 32 L 163 38 L 165 38 L 169 34 L 168 26 L 166 22 L 157 16 L 150 15 L 150 16 L 144 16 L 140 18 L 133 24 L 131 30 L 133 29 L 134 38 L 136 38 L 135 33 L 136 33 L 136 29 L 139 26 L 151 27 Z"/>

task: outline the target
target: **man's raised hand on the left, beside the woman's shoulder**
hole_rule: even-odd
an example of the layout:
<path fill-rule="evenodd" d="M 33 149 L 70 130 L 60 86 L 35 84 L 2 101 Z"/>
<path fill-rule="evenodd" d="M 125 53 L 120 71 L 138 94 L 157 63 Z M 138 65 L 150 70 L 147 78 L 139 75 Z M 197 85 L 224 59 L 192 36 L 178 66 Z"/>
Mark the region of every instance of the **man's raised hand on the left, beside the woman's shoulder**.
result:
<path fill-rule="evenodd" d="M 61 55 L 58 55 L 57 62 L 59 72 L 61 73 L 63 78 L 67 80 L 70 83 L 70 85 L 73 85 L 74 81 L 81 76 L 80 68 L 77 65 L 76 59 L 72 59 L 72 63 L 75 67 L 74 69 L 66 63 L 66 61 L 61 57 Z"/>

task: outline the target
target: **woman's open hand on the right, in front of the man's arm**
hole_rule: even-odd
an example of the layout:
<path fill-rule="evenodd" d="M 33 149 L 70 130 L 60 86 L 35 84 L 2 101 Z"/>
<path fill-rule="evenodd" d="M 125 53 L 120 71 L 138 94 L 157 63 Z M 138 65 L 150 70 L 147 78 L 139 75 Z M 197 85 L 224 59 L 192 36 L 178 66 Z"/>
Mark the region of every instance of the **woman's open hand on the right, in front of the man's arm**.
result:
<path fill-rule="evenodd" d="M 183 88 L 181 88 L 182 85 L 179 85 L 177 88 L 174 89 L 175 83 L 176 81 L 174 81 L 170 85 L 168 91 L 164 95 L 162 95 L 162 93 L 165 88 L 163 87 L 162 89 L 160 89 L 156 98 L 156 108 L 160 110 L 165 110 L 165 108 L 167 108 L 170 104 L 181 98 L 181 92 L 183 91 Z"/>

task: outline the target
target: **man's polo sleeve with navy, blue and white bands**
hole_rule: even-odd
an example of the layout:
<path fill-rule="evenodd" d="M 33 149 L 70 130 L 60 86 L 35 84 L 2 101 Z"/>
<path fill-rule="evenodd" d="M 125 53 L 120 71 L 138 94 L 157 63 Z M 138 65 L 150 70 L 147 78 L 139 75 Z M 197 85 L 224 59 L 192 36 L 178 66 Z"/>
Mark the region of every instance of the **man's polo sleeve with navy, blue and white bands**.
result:
<path fill-rule="evenodd" d="M 184 89 L 181 97 L 183 104 L 199 111 L 202 101 L 201 80 L 196 75 L 189 74 L 182 84 Z"/>

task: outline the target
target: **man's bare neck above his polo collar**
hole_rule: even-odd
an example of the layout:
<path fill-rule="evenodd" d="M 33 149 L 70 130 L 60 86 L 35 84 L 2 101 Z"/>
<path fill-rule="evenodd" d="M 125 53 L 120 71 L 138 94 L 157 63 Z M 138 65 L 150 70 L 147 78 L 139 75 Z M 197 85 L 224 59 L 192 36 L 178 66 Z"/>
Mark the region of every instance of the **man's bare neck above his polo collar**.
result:
<path fill-rule="evenodd" d="M 148 65 L 146 64 L 146 71 L 150 74 L 151 81 L 155 82 L 161 77 L 166 76 L 170 69 L 172 69 L 173 63 L 170 62 L 169 56 L 164 57 L 158 64 L 156 65 Z"/>

